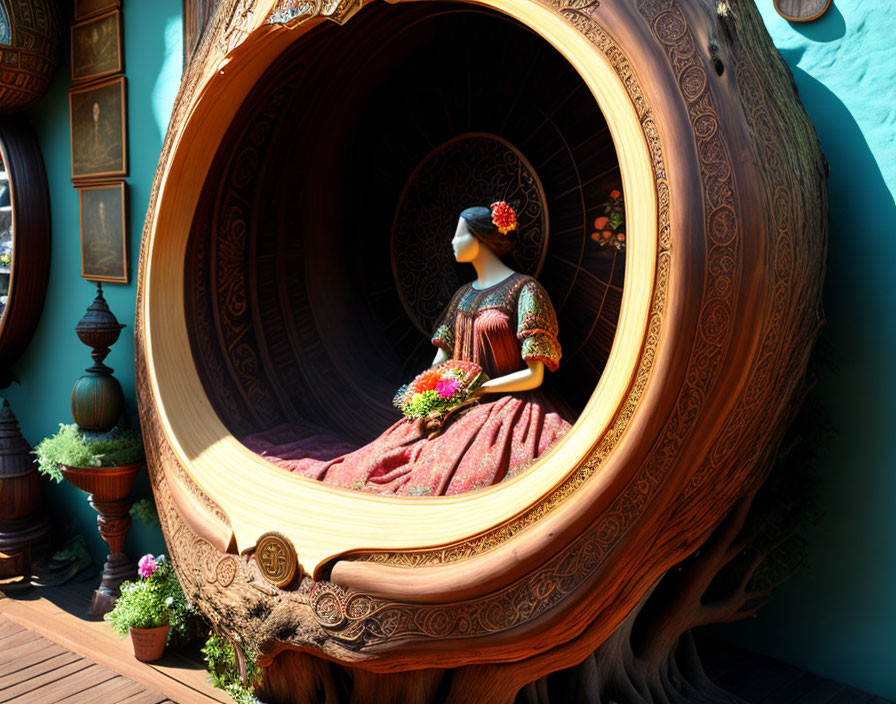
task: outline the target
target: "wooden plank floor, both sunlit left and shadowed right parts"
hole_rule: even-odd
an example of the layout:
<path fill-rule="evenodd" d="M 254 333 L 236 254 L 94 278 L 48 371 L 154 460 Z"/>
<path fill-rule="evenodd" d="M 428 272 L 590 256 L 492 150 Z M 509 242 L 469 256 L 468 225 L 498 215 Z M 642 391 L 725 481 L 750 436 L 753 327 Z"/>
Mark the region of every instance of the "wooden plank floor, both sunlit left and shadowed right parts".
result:
<path fill-rule="evenodd" d="M 198 653 L 134 659 L 128 641 L 87 615 L 91 579 L 4 596 L 0 704 L 228 704 Z M 707 673 L 749 704 L 896 704 L 716 640 L 698 638 Z"/>

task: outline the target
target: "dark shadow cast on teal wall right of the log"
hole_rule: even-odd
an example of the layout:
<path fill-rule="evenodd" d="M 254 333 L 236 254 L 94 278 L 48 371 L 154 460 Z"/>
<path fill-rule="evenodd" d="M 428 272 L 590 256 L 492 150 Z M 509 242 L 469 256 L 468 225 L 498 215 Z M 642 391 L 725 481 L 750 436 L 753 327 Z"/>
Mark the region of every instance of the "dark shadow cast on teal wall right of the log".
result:
<path fill-rule="evenodd" d="M 834 32 L 820 27 L 820 36 L 810 34 L 811 25 L 794 28 L 829 41 L 842 36 L 839 12 L 833 24 Z M 896 203 L 847 107 L 796 68 L 802 49 L 781 53 L 830 163 L 821 345 L 833 350 L 840 369 L 822 372 L 813 396 L 829 413 L 837 437 L 819 467 L 822 517 L 808 536 L 809 569 L 782 587 L 756 619 L 719 631 L 818 675 L 896 699 L 890 655 L 896 602 L 889 590 L 896 563 L 886 559 L 896 554 L 896 396 L 888 393 L 896 389 Z"/>

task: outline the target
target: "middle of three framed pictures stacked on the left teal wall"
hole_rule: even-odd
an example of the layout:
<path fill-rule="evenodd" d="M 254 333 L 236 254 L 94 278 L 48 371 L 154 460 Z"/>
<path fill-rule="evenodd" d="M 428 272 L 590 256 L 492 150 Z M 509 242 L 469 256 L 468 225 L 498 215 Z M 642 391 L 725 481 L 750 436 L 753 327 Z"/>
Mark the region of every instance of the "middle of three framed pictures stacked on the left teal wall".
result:
<path fill-rule="evenodd" d="M 72 180 L 127 176 L 125 78 L 69 91 Z"/>

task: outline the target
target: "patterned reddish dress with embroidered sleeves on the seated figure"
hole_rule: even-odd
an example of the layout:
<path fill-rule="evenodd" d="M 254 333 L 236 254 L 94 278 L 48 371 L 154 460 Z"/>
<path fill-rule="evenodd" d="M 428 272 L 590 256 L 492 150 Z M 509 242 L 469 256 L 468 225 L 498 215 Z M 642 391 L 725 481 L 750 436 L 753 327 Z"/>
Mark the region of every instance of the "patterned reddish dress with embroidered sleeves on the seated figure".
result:
<path fill-rule="evenodd" d="M 492 379 L 525 368 L 527 360 L 540 360 L 551 371 L 560 361 L 551 301 L 535 279 L 516 273 L 486 289 L 461 287 L 432 342 L 453 359 L 476 362 Z M 328 484 L 410 496 L 461 494 L 526 469 L 569 429 L 561 414 L 568 415 L 539 388 L 485 394 L 437 432 L 421 421 L 401 420 L 351 451 L 311 430 L 287 438 L 274 429 L 245 443 L 280 466 Z M 337 453 L 343 454 L 319 459 Z"/>

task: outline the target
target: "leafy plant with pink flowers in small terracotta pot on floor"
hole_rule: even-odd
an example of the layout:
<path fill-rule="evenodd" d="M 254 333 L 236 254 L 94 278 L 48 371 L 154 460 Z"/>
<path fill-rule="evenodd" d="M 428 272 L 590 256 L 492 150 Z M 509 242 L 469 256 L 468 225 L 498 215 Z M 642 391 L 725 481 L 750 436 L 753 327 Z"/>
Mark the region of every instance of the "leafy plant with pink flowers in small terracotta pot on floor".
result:
<path fill-rule="evenodd" d="M 169 642 L 196 635 L 198 614 L 187 602 L 171 562 L 164 555 L 144 555 L 137 563 L 140 579 L 124 582 L 115 608 L 105 619 L 122 638 L 131 628 L 171 625 Z"/>

